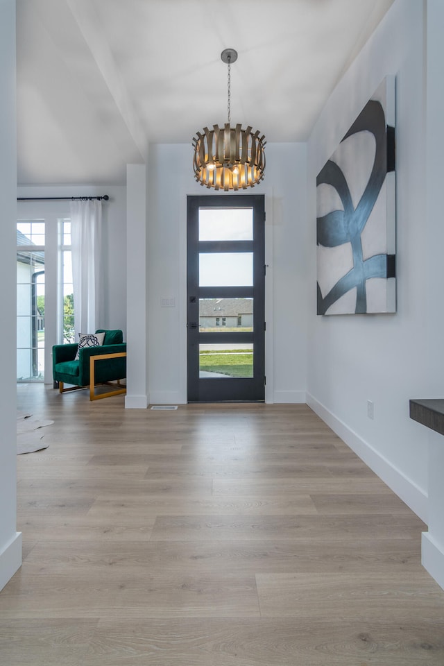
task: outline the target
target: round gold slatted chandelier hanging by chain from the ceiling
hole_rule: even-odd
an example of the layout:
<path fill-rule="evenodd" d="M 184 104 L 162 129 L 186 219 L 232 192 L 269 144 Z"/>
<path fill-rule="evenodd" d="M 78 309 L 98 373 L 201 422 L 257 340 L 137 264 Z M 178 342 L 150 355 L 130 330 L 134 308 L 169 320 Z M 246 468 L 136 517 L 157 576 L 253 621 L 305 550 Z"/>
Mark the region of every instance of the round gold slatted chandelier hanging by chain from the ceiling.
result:
<path fill-rule="evenodd" d="M 231 127 L 231 63 L 237 51 L 225 49 L 221 60 L 228 65 L 228 122 L 223 127 L 204 127 L 193 138 L 194 176 L 200 185 L 237 190 L 254 187 L 264 178 L 265 136 L 248 126 Z"/>

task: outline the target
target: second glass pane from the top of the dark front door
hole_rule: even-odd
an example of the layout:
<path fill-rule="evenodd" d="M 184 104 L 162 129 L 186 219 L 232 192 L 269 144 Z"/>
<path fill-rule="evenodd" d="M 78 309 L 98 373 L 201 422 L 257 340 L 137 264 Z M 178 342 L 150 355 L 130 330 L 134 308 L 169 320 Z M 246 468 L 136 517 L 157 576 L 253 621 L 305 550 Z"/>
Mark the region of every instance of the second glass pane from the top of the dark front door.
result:
<path fill-rule="evenodd" d="M 253 287 L 253 253 L 200 253 L 199 287 Z"/>

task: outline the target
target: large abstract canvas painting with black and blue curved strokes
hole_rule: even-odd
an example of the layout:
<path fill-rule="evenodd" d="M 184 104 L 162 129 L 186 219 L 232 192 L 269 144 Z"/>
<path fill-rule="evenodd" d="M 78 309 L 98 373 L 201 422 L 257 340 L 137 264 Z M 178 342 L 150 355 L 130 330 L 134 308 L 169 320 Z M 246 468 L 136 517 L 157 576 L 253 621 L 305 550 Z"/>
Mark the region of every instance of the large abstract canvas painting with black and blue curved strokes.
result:
<path fill-rule="evenodd" d="M 395 77 L 316 180 L 318 314 L 395 312 Z"/>

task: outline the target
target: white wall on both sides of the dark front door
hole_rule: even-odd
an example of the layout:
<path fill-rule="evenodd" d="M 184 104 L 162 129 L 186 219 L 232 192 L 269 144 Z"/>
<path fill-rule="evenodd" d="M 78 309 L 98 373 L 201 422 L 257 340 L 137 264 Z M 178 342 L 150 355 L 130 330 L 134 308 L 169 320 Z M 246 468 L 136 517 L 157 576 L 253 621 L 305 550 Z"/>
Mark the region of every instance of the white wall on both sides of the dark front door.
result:
<path fill-rule="evenodd" d="M 191 158 L 187 144 L 150 148 L 150 402 L 187 402 L 187 195 L 214 194 L 194 180 Z M 266 160 L 264 184 L 248 191 L 266 198 L 266 400 L 305 402 L 305 144 L 267 144 Z M 175 307 L 161 307 L 162 298 Z"/>

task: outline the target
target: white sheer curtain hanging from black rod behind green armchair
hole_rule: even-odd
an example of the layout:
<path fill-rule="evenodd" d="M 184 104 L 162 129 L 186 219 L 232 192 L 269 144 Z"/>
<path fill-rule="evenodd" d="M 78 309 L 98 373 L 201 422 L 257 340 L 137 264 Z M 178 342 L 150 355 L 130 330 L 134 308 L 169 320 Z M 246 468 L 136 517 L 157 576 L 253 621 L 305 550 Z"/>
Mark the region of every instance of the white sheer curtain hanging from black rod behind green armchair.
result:
<path fill-rule="evenodd" d="M 102 202 L 71 201 L 74 331 L 94 333 L 103 326 Z"/>

